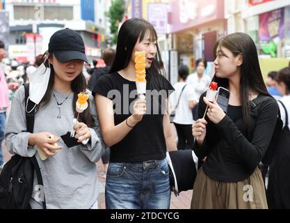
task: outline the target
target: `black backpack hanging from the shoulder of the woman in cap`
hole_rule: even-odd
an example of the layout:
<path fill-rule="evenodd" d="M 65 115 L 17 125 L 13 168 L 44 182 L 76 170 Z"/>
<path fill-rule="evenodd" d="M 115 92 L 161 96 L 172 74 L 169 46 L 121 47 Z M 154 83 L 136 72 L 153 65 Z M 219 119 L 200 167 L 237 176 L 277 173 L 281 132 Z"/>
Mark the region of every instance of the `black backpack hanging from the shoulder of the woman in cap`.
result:
<path fill-rule="evenodd" d="M 32 108 L 32 112 L 26 112 L 27 132 L 33 133 L 34 128 L 34 103 L 28 100 L 29 84 L 24 84 L 25 105 Z M 29 110 L 29 109 L 26 109 Z M 4 165 L 0 175 L 0 209 L 30 209 L 29 201 L 33 193 L 34 171 L 40 185 L 42 206 L 46 209 L 44 187 L 38 161 L 33 157 L 13 155 Z"/>

